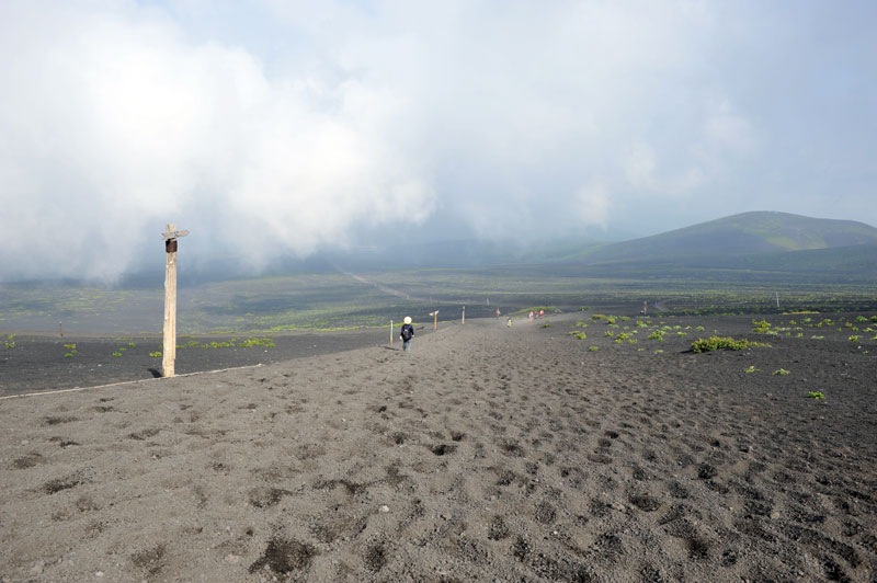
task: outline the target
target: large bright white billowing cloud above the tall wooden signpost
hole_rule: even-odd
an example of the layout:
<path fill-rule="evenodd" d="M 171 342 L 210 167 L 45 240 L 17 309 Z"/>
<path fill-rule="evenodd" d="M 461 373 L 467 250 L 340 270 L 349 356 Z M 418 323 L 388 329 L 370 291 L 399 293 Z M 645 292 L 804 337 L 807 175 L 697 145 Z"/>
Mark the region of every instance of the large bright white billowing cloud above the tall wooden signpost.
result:
<path fill-rule="evenodd" d="M 431 209 L 395 140 L 405 100 L 391 92 L 269 78 L 246 49 L 190 44 L 135 5 L 48 8 L 2 19 L 27 31 L 0 54 L 5 270 L 112 278 L 167 220 L 198 225 L 181 213 L 206 205 L 202 228 L 258 241 L 257 259 Z"/>

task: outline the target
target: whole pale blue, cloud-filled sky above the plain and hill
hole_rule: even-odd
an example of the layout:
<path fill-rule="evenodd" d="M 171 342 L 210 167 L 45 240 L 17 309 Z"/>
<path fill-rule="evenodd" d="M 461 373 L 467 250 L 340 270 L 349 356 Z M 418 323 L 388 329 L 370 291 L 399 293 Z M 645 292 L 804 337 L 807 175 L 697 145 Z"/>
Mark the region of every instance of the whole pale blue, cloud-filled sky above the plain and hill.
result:
<path fill-rule="evenodd" d="M 326 245 L 877 225 L 870 1 L 0 3 L 0 281 L 168 221 Z M 159 241 L 160 243 L 160 241 Z"/>

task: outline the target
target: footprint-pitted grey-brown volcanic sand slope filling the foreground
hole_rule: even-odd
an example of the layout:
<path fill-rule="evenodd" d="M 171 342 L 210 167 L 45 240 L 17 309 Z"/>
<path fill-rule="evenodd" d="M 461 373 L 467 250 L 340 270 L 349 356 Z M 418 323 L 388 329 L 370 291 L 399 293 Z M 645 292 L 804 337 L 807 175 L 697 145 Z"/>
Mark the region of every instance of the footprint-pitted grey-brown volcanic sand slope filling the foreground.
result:
<path fill-rule="evenodd" d="M 579 317 L 0 400 L 0 580 L 875 581 L 874 332 Z"/>

